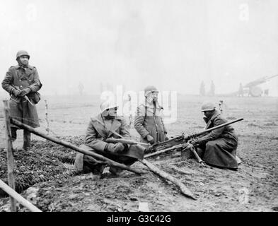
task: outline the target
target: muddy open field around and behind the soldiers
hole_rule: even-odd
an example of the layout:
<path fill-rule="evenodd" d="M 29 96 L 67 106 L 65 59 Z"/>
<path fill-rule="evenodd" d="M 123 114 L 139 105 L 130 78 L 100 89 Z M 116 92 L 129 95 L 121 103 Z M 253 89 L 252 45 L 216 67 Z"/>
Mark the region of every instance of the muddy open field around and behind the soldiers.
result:
<path fill-rule="evenodd" d="M 90 117 L 98 112 L 97 97 L 45 99 L 48 103 L 50 135 L 75 144 L 81 143 Z M 181 157 L 179 152 L 149 158 L 154 165 L 180 179 L 196 196 L 196 201 L 183 196 L 176 186 L 151 172 L 139 176 L 126 171 L 122 176 L 115 177 L 105 169 L 99 180 L 95 180 L 92 174 L 76 175 L 71 169 L 75 153 L 37 136 L 33 136 L 35 142 L 28 155 L 30 159 L 41 157 L 41 162 L 33 162 L 30 174 L 37 174 L 39 167 L 36 164 L 43 164 L 44 159 L 49 164 L 55 162 L 59 170 L 52 169 L 55 174 L 49 179 L 34 183 L 21 194 L 30 198 L 33 189 L 32 200 L 43 211 L 138 211 L 140 203 L 147 203 L 149 211 L 277 211 L 278 99 L 212 97 L 211 100 L 224 100 L 224 114 L 228 120 L 244 118 L 244 121 L 233 124 L 239 136 L 238 156 L 242 160 L 238 171 L 201 167 L 195 160 Z M 178 120 L 167 125 L 170 136 L 204 129 L 199 112 L 202 102 L 203 99 L 197 96 L 178 97 Z M 46 132 L 44 104 L 42 99 L 37 109 L 40 131 Z M 0 109 L 0 120 L 3 128 L 3 109 Z M 16 145 L 21 145 L 22 132 L 18 136 Z M 132 136 L 139 139 L 134 129 Z M 4 130 L 1 129 L 0 148 L 3 156 L 4 137 Z M 28 158 L 28 155 L 16 154 L 18 169 L 21 164 L 28 162 L 19 158 Z M 139 162 L 133 167 L 146 169 Z M 177 167 L 179 171 L 175 170 Z M 64 170 L 61 172 L 61 169 Z M 5 170 L 2 164 L 1 179 L 5 179 L 2 178 L 5 177 Z M 42 175 L 47 178 L 47 174 Z M 18 170 L 17 177 L 20 176 L 21 171 Z M 35 177 L 30 177 L 32 179 Z M 7 203 L 8 198 L 0 198 L 1 211 L 7 210 Z M 19 211 L 26 211 L 22 206 L 18 208 Z"/>

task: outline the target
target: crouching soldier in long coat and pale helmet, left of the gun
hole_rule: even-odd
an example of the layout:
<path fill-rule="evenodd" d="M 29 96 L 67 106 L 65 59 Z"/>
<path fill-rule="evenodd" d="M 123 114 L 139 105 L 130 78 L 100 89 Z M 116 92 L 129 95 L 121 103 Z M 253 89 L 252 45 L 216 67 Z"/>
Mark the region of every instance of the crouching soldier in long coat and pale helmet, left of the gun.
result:
<path fill-rule="evenodd" d="M 91 118 L 86 131 L 85 144 L 81 145 L 81 148 L 130 166 L 137 159 L 144 158 L 145 148 L 141 145 L 108 143 L 105 141 L 107 138 L 131 139 L 124 117 L 117 116 L 117 108 L 118 106 L 112 105 L 111 102 L 103 102 L 100 105 L 100 114 L 95 118 Z M 77 153 L 74 162 L 75 169 L 78 172 L 93 172 L 98 177 L 103 173 L 105 165 L 105 162 L 82 153 Z M 122 169 L 110 166 L 109 171 L 119 176 Z"/>

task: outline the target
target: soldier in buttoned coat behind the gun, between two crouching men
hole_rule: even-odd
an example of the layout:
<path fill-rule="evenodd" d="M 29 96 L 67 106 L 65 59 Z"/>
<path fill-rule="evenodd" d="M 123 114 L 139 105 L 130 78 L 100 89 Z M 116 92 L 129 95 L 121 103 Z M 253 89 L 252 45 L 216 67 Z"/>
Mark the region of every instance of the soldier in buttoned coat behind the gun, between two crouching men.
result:
<path fill-rule="evenodd" d="M 163 123 L 162 109 L 158 104 L 158 90 L 149 85 L 144 89 L 145 102 L 137 107 L 134 128 L 141 136 L 141 142 L 158 143 L 168 140 Z"/>

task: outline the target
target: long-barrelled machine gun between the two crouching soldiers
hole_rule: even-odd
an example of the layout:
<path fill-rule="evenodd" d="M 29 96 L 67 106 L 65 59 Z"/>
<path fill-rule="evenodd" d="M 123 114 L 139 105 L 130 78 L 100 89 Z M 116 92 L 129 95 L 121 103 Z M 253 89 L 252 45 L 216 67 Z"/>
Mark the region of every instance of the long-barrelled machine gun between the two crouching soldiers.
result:
<path fill-rule="evenodd" d="M 150 147 L 152 153 L 150 153 L 148 155 L 145 155 L 144 157 L 146 158 L 146 157 L 151 157 L 151 156 L 154 156 L 154 155 L 159 155 L 161 153 L 166 153 L 166 151 L 168 151 L 168 150 L 174 150 L 174 149 L 179 149 L 179 148 L 184 149 L 184 148 L 186 148 L 187 143 L 192 138 L 197 138 L 199 136 L 202 136 L 204 133 L 209 133 L 209 132 L 213 131 L 214 129 L 219 129 L 221 127 L 228 126 L 229 124 L 233 124 L 237 121 L 242 121 L 242 120 L 243 120 L 243 118 L 236 119 L 236 120 L 233 120 L 233 121 L 228 121 L 224 124 L 221 124 L 219 126 L 214 126 L 210 129 L 206 129 L 206 130 L 204 130 L 202 132 L 199 132 L 199 133 L 193 133 L 192 135 L 189 135 L 189 136 L 185 136 L 184 134 L 182 134 L 181 136 L 172 138 L 168 141 L 163 141 L 161 143 L 156 143 L 154 145 L 151 145 L 151 147 Z M 175 143 L 175 145 L 173 145 L 173 143 Z M 202 160 L 200 160 L 199 156 L 197 155 L 196 151 L 192 150 L 192 152 L 194 153 L 195 157 L 197 157 L 198 162 L 202 162 Z"/>

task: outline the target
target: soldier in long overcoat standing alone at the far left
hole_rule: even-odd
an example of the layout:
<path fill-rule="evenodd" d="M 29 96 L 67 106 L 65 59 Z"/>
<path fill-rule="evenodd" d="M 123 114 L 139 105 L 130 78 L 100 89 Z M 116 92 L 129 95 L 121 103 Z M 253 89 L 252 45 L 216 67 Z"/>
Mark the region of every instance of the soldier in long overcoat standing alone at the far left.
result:
<path fill-rule="evenodd" d="M 40 83 L 35 66 L 29 65 L 29 59 L 28 52 L 18 51 L 16 54 L 18 65 L 8 69 L 6 77 L 2 81 L 2 88 L 11 95 L 9 101 L 11 117 L 36 128 L 40 124 L 35 104 L 40 101 L 40 94 L 37 91 L 42 87 L 42 83 Z M 11 125 L 12 141 L 16 141 L 17 129 L 19 129 L 17 126 Z M 23 140 L 23 148 L 18 148 L 18 150 L 28 150 L 30 147 L 31 134 L 29 131 L 23 131 Z"/>

